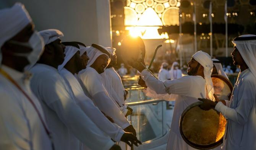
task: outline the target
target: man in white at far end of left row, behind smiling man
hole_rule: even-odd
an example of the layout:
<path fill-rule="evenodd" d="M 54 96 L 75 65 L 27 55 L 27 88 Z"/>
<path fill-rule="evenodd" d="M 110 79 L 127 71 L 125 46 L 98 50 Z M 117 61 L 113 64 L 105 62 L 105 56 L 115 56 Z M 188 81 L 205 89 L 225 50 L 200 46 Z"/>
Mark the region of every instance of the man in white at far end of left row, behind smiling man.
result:
<path fill-rule="evenodd" d="M 117 56 L 115 55 L 115 49 L 111 47 L 106 47 L 107 50 L 110 53 L 110 63 L 105 69 L 103 73 L 100 75 L 102 76 L 102 82 L 104 87 L 106 88 L 109 95 L 112 96 L 112 98 L 117 101 L 118 105 L 122 107 L 122 109 L 125 109 L 125 111 L 122 111 L 125 116 L 128 116 L 131 114 L 130 107 L 127 109 L 127 105 L 125 104 L 125 88 L 123 87 L 122 79 L 119 76 L 119 74 L 115 71 L 113 68 L 114 65 L 117 64 Z"/>

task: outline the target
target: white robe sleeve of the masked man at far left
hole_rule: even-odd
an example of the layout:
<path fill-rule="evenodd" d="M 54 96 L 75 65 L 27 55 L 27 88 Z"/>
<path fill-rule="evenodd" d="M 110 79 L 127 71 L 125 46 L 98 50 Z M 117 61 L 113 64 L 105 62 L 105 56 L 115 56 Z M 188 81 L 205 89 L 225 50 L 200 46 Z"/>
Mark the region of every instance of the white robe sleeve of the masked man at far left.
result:
<path fill-rule="evenodd" d="M 33 150 L 31 128 L 29 118 L 24 114 L 25 110 L 4 90 L 0 92 L 0 149 L 1 150 Z M 28 135 L 29 134 L 29 135 Z"/>

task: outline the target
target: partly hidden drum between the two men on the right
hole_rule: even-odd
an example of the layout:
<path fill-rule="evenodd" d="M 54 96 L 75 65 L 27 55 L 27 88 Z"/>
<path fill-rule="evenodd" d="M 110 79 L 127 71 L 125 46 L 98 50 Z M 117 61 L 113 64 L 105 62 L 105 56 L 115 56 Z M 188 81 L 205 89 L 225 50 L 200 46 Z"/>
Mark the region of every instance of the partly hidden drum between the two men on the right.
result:
<path fill-rule="evenodd" d="M 224 76 L 219 74 L 213 74 L 211 78 L 214 87 L 214 93 L 217 95 L 217 97 L 219 99 L 228 100 L 228 95 L 230 95 L 233 90 L 232 83 Z"/>

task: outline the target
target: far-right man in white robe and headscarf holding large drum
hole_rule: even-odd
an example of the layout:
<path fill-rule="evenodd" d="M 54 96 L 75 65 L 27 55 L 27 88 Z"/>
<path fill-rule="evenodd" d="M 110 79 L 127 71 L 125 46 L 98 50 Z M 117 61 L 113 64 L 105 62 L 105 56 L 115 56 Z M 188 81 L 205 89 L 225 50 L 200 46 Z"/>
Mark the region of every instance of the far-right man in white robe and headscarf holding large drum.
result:
<path fill-rule="evenodd" d="M 241 72 L 233 88 L 230 101 L 219 100 L 213 103 L 203 101 L 203 109 L 215 108 L 227 118 L 226 149 L 256 149 L 256 35 L 242 35 L 235 38 L 232 52 L 234 65 Z M 225 136 L 225 135 L 224 135 Z"/>

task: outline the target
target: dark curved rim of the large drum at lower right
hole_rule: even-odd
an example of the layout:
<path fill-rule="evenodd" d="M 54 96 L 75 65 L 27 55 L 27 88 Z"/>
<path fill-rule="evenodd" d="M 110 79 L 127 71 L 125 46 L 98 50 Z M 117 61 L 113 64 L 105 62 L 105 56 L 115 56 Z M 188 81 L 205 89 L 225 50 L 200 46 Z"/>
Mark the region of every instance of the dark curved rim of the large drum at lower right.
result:
<path fill-rule="evenodd" d="M 184 140 L 188 145 L 190 145 L 191 147 L 196 148 L 196 149 L 199 149 L 199 150 L 209 150 L 209 149 L 218 147 L 220 144 L 222 144 L 222 142 L 223 142 L 223 137 L 222 137 L 219 141 L 217 141 L 217 142 L 215 142 L 215 143 L 213 143 L 213 144 L 209 144 L 209 145 L 199 145 L 199 144 L 194 144 L 193 142 L 189 141 L 189 140 L 184 136 L 183 131 L 182 131 L 182 123 L 181 123 L 181 122 L 183 121 L 183 118 L 184 118 L 185 113 L 186 113 L 189 109 L 191 109 L 192 107 L 198 106 L 199 104 L 202 104 L 202 103 L 203 103 L 203 102 L 201 102 L 201 101 L 192 103 L 192 104 L 190 104 L 188 107 L 186 107 L 186 109 L 182 112 L 181 117 L 180 117 L 180 122 L 179 122 L 179 124 L 180 124 L 180 134 L 181 134 L 181 137 L 183 138 L 183 140 Z M 215 109 L 214 109 L 214 110 L 215 110 Z"/>

